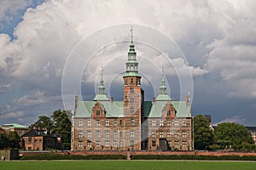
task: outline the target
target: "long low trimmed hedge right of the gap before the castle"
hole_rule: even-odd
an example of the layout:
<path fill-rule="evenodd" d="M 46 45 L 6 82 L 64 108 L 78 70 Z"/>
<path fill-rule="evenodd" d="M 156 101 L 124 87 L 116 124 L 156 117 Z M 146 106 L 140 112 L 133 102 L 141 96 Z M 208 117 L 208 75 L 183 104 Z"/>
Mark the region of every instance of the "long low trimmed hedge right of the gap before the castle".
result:
<path fill-rule="evenodd" d="M 256 161 L 256 156 L 137 155 L 131 160 L 236 160 Z"/>

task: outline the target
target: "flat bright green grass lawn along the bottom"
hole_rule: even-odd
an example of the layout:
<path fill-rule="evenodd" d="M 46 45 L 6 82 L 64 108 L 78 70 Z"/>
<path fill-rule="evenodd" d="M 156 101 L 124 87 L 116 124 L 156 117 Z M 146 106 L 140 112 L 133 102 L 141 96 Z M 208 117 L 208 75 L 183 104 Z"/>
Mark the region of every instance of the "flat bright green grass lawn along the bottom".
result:
<path fill-rule="evenodd" d="M 189 169 L 255 170 L 256 162 L 245 161 L 0 161 L 4 170 L 81 170 L 81 169 Z"/>

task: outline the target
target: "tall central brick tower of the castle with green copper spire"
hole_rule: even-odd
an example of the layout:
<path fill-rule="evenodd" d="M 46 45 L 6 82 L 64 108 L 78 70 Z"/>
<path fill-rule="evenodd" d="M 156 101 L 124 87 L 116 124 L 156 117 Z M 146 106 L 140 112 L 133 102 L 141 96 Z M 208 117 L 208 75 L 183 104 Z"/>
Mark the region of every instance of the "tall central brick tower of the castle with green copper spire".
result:
<path fill-rule="evenodd" d="M 133 43 L 131 27 L 131 43 L 128 59 L 125 63 L 126 71 L 124 78 L 124 120 L 127 136 L 131 136 L 130 148 L 141 150 L 141 125 L 144 120 L 143 102 L 144 94 L 141 88 L 141 75 L 138 72 L 137 53 Z M 135 135 L 129 134 L 134 133 Z M 127 139 L 129 141 L 129 139 Z M 128 145 L 128 144 L 127 144 Z"/>

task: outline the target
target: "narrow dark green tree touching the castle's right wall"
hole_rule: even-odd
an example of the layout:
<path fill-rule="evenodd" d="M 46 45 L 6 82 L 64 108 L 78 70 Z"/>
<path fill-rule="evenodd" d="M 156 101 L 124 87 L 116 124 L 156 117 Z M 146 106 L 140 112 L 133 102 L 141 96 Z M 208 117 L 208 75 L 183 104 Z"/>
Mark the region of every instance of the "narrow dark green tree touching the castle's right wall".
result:
<path fill-rule="evenodd" d="M 195 150 L 209 150 L 209 146 L 213 144 L 213 133 L 209 126 L 210 123 L 207 122 L 205 116 L 194 117 Z"/>

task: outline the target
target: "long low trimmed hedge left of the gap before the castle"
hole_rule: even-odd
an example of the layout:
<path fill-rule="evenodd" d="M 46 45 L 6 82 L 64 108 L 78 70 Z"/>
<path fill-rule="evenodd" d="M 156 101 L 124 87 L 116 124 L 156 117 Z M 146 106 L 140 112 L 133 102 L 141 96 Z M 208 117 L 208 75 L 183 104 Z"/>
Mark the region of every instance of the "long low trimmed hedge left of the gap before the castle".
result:
<path fill-rule="evenodd" d="M 59 154 L 35 154 L 22 156 L 20 160 L 124 160 L 123 155 L 59 155 Z"/>

